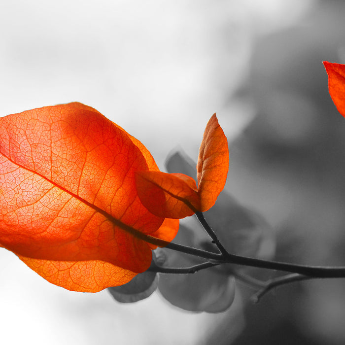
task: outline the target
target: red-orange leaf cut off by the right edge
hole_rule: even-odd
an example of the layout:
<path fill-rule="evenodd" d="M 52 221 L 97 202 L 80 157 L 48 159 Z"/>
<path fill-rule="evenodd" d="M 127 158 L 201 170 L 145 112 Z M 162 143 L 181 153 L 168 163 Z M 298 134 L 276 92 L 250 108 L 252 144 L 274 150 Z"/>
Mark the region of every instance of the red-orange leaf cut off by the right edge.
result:
<path fill-rule="evenodd" d="M 338 111 L 345 117 L 345 65 L 324 61 L 328 74 L 328 89 Z"/>

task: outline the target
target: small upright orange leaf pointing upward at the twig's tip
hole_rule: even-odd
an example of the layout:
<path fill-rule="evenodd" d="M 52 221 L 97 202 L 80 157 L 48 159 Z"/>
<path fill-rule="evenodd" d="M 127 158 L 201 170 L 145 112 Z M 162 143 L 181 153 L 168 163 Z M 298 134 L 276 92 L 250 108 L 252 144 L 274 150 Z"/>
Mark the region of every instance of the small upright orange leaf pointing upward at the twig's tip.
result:
<path fill-rule="evenodd" d="M 213 114 L 205 129 L 197 163 L 200 211 L 207 211 L 214 205 L 225 186 L 228 170 L 228 140 Z"/>

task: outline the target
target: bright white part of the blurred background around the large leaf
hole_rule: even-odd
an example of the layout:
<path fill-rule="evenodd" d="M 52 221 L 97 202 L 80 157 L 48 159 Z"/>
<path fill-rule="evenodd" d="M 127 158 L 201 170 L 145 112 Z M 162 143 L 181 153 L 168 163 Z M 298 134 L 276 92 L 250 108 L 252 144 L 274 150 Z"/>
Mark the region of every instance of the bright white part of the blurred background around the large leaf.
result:
<path fill-rule="evenodd" d="M 312 3 L 1 1 L 0 116 L 78 101 L 140 139 L 162 169 L 176 145 L 196 158 L 213 112 L 230 140 L 253 116 L 227 102 L 253 37 L 292 25 Z M 176 310 L 157 293 L 121 305 L 107 291 L 69 292 L 6 250 L 0 306 L 2 344 L 200 344 L 230 317 Z"/>

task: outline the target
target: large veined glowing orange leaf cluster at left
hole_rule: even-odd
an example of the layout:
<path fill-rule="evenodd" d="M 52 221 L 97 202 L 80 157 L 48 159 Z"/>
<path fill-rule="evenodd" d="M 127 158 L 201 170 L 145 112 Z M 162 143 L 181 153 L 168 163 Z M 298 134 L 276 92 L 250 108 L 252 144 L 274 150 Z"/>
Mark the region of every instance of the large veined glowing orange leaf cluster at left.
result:
<path fill-rule="evenodd" d="M 145 236 L 171 241 L 178 228 L 163 234 L 140 202 L 135 173 L 148 170 L 147 149 L 86 105 L 0 118 L 0 245 L 68 289 L 126 283 L 151 263 Z"/>

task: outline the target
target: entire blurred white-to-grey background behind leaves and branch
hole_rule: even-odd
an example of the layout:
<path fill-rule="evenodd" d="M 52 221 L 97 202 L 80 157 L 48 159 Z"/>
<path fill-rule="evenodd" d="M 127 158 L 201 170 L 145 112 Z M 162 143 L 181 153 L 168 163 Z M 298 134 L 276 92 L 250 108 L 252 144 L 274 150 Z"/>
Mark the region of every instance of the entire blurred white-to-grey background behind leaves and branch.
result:
<path fill-rule="evenodd" d="M 276 259 L 345 265 L 345 119 L 322 61 L 345 63 L 332 0 L 1 1 L 0 116 L 82 102 L 140 139 L 163 170 L 194 159 L 217 112 L 227 190 L 263 214 Z M 244 292 L 243 292 L 244 291 Z M 121 305 L 69 292 L 0 251 L 3 344 L 345 344 L 345 282 L 295 283 L 193 314 L 158 293 Z"/>

